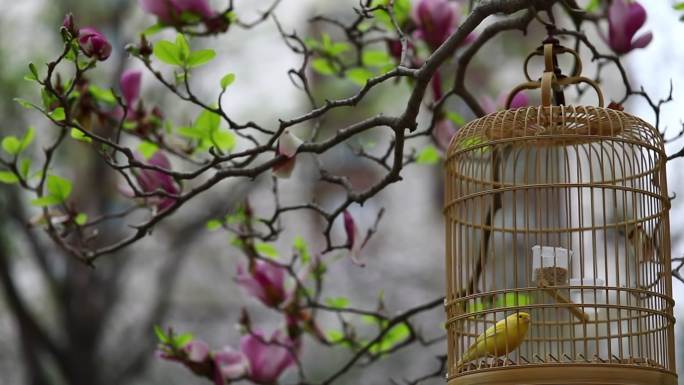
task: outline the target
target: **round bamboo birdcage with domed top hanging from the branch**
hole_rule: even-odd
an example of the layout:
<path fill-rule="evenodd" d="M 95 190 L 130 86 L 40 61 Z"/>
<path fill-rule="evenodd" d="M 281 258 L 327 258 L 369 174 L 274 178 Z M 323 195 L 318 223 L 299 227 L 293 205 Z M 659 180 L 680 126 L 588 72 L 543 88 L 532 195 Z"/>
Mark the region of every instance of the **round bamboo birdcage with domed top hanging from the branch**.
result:
<path fill-rule="evenodd" d="M 569 77 L 555 57 L 566 52 L 577 69 Z M 574 51 L 544 44 L 536 54 L 541 80 L 509 101 L 540 88 L 542 106 L 474 120 L 448 150 L 449 384 L 676 384 L 662 138 L 603 108 Z M 552 105 L 579 82 L 599 107 Z M 517 349 L 459 365 L 516 312 L 531 319 Z"/>

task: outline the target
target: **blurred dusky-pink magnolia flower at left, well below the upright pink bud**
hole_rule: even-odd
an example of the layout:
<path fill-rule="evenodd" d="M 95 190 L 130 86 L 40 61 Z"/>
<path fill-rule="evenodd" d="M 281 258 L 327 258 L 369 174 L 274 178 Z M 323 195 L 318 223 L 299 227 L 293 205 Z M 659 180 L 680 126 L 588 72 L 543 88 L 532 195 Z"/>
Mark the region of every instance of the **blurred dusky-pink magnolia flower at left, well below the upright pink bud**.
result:
<path fill-rule="evenodd" d="M 136 158 L 140 160 L 140 157 L 136 156 Z M 171 163 L 169 162 L 169 159 L 161 151 L 157 151 L 154 155 L 152 155 L 152 157 L 147 161 L 147 164 L 166 170 L 171 170 Z M 144 168 L 139 169 L 136 170 L 135 179 L 143 192 L 152 193 L 157 190 L 163 190 L 173 195 L 180 194 L 180 189 L 178 188 L 178 185 L 174 179 L 170 175 L 161 171 Z M 161 211 L 173 205 L 176 202 L 176 198 L 162 196 L 155 198 L 154 202 L 157 206 L 157 209 Z"/>

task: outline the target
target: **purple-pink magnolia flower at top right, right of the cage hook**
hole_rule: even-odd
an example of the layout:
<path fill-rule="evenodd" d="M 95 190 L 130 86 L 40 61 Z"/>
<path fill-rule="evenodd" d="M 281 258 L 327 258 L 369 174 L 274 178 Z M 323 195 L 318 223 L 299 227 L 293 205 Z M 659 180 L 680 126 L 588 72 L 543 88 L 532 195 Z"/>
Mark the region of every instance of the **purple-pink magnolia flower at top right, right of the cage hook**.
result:
<path fill-rule="evenodd" d="M 613 0 L 608 9 L 608 45 L 617 54 L 646 47 L 653 39 L 648 31 L 634 39 L 646 22 L 646 10 L 641 4 L 628 0 Z"/>

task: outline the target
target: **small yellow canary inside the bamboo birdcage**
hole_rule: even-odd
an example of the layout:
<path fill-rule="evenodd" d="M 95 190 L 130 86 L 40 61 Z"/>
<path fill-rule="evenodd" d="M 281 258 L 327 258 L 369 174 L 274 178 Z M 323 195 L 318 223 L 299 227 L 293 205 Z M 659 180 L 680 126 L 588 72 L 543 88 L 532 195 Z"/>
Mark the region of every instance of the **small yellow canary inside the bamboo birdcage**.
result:
<path fill-rule="evenodd" d="M 530 315 L 524 312 L 511 314 L 477 336 L 456 367 L 481 357 L 508 354 L 525 340 L 530 326 Z"/>

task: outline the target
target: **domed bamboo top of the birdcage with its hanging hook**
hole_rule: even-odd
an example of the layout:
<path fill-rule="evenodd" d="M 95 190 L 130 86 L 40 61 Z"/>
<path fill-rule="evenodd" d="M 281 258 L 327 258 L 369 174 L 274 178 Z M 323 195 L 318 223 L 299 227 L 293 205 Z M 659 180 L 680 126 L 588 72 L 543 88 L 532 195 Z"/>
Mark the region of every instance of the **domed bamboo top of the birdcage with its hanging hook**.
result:
<path fill-rule="evenodd" d="M 565 53 L 574 58 L 574 71 L 570 76 L 562 75 L 557 66 L 556 55 Z M 544 57 L 545 68 L 541 78 L 533 81 L 527 67 L 535 56 Z M 527 82 L 509 93 L 507 109 L 465 124 L 452 138 L 449 154 L 509 141 L 520 145 L 557 145 L 613 138 L 627 143 L 647 143 L 664 155 L 662 138 L 657 130 L 618 108 L 604 107 L 603 94 L 598 84 L 582 76 L 581 71 L 582 63 L 575 51 L 552 43 L 539 47 L 525 60 L 524 73 Z M 596 91 L 598 107 L 563 105 L 563 88 L 581 83 Z M 509 109 L 512 98 L 525 89 L 541 90 L 541 106 Z M 558 105 L 553 105 L 552 101 Z"/>

